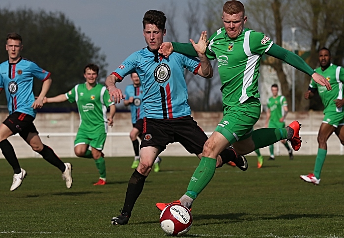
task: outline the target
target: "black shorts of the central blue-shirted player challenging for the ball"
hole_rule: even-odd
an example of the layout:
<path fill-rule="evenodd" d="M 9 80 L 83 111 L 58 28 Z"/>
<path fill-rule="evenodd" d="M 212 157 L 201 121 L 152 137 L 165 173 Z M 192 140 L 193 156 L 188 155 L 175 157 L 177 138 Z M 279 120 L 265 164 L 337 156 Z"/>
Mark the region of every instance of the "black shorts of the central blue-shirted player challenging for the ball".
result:
<path fill-rule="evenodd" d="M 191 116 L 175 119 L 143 118 L 143 140 L 140 148 L 158 146 L 160 152 L 170 143 L 179 142 L 190 154 L 201 154 L 208 139 Z"/>

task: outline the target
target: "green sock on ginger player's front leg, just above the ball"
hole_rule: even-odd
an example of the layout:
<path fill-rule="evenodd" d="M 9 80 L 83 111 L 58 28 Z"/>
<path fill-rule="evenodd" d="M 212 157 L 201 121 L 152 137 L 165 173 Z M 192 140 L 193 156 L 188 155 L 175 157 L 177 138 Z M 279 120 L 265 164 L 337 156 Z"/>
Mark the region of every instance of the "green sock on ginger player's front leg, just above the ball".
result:
<path fill-rule="evenodd" d="M 213 178 L 216 168 L 216 159 L 202 157 L 201 162 L 191 177 L 187 192 L 185 195 L 196 199 L 204 187 Z"/>

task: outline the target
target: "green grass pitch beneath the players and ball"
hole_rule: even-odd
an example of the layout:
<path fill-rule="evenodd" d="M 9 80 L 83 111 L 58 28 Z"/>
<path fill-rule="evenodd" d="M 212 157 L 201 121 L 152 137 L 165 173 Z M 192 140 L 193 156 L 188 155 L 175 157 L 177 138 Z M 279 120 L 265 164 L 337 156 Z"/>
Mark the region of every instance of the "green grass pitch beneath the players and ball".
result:
<path fill-rule="evenodd" d="M 20 159 L 28 172 L 10 192 L 12 168 L 0 159 L 0 237 L 167 237 L 156 202 L 179 199 L 199 160 L 163 158 L 161 171 L 146 179 L 128 225 L 111 225 L 124 203 L 132 158 L 106 158 L 108 185 L 93 186 L 98 173 L 89 159 L 63 159 L 73 165 L 67 189 L 57 168 L 43 159 Z M 193 228 L 184 237 L 343 238 L 344 158 L 328 156 L 320 185 L 300 180 L 314 168 L 315 156 L 277 157 L 246 172 L 224 166 L 193 205 Z"/>

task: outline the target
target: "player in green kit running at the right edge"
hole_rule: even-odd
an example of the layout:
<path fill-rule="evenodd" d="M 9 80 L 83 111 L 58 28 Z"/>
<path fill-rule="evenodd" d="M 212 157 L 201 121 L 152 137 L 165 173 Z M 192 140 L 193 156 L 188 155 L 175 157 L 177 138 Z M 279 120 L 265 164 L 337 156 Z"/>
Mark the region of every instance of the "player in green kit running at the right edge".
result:
<path fill-rule="evenodd" d="M 320 183 L 320 173 L 327 154 L 326 142 L 330 135 L 335 132 L 344 145 L 344 69 L 341 66 L 331 64 L 331 52 L 327 48 L 322 48 L 319 51 L 318 58 L 320 67 L 316 68 L 315 72 L 324 76 L 330 82 L 332 91 L 327 91 L 326 88 L 317 85 L 314 79 L 311 79 L 308 91 L 305 93 L 305 99 L 310 99 L 317 90 L 325 107 L 324 120 L 321 123 L 317 138 L 319 148 L 315 159 L 314 171 L 309 175 L 300 176 L 302 180 L 314 185 Z"/>

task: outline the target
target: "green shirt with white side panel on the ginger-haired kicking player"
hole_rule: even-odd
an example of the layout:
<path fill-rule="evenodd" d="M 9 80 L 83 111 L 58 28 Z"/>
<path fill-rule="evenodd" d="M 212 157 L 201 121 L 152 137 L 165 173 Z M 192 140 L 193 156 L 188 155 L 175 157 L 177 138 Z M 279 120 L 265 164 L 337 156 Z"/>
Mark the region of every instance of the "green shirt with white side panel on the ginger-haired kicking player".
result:
<path fill-rule="evenodd" d="M 272 40 L 248 28 L 244 28 L 236 39 L 230 39 L 223 27 L 209 38 L 209 42 L 206 56 L 218 61 L 223 103 L 237 106 L 249 97 L 259 98 L 260 59 L 272 46 Z"/>

